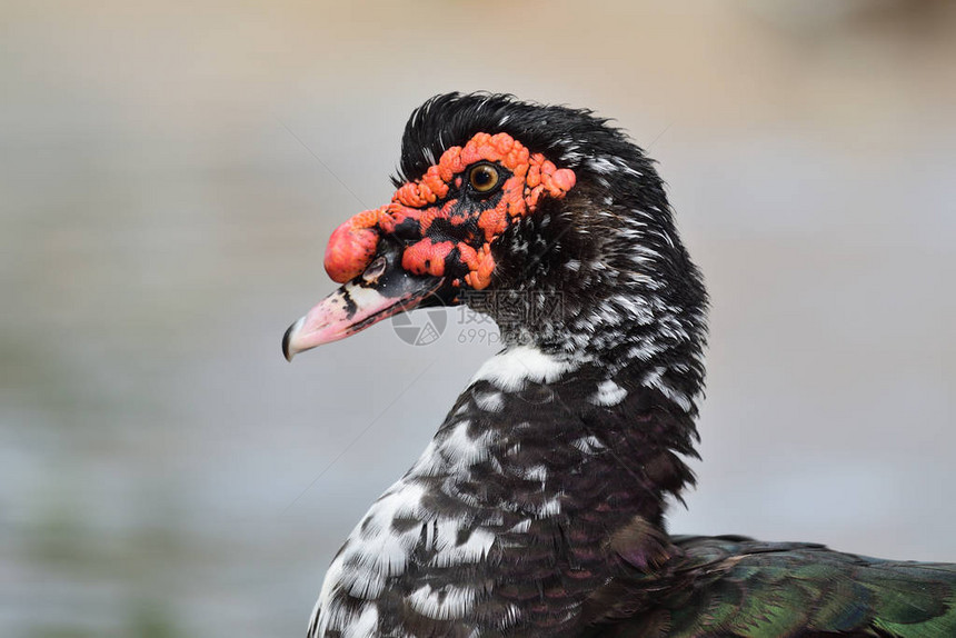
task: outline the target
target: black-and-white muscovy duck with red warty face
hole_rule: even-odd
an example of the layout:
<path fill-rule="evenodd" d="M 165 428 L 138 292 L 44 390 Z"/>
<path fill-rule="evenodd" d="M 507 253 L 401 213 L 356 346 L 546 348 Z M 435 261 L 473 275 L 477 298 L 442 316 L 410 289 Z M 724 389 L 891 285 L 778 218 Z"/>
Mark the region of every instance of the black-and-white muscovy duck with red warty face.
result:
<path fill-rule="evenodd" d="M 707 296 L 645 153 L 591 111 L 435 97 L 397 191 L 331 236 L 297 352 L 414 308 L 487 361 L 326 574 L 310 637 L 956 636 L 956 566 L 670 536 L 694 484 Z"/>

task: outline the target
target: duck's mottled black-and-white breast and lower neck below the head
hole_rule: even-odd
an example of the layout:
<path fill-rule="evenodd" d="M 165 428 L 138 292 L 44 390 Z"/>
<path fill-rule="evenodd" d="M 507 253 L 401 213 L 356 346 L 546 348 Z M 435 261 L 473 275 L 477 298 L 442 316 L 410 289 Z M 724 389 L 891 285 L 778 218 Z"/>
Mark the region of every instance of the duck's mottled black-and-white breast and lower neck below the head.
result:
<path fill-rule="evenodd" d="M 608 575 L 663 559 L 686 423 L 655 391 L 611 392 L 600 368 L 567 366 L 516 347 L 478 372 L 336 557 L 315 635 L 362 614 L 395 622 L 384 635 L 579 635 Z"/>

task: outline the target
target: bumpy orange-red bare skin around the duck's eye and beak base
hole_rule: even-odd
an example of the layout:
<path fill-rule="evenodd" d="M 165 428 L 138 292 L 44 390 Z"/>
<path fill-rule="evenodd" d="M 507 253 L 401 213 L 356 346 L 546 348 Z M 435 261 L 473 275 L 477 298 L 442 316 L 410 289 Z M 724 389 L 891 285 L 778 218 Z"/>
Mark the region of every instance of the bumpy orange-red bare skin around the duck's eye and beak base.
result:
<path fill-rule="evenodd" d="M 511 172 L 500 186 L 500 199 L 495 208 L 484 211 L 456 210 L 457 199 L 446 200 L 451 188 L 460 188 L 464 173 L 472 165 L 487 161 Z M 477 133 L 464 147 L 451 147 L 425 176 L 404 183 L 391 203 L 360 212 L 339 226 L 326 250 L 326 271 L 332 280 L 343 283 L 359 276 L 371 262 L 382 236 L 390 235 L 408 218 L 418 221 L 420 238 L 408 246 L 401 266 L 416 275 L 445 275 L 446 263 L 457 250 L 467 266 L 464 282 L 482 290 L 491 282 L 495 259 L 491 243 L 516 220 L 535 212 L 541 198 L 564 198 L 574 188 L 574 171 L 557 168 L 541 153 L 531 154 L 521 142 L 508 133 Z M 459 241 L 429 230 L 436 219 L 460 227 L 474 222 L 478 232 L 465 232 Z M 452 285 L 460 286 L 456 279 Z"/>

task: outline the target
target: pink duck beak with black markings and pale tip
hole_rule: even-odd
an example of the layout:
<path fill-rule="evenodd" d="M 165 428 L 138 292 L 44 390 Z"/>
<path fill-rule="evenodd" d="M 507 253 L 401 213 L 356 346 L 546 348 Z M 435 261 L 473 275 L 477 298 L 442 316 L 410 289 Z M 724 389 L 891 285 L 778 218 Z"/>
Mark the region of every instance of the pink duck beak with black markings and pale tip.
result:
<path fill-rule="evenodd" d="M 405 270 L 400 250 L 387 247 L 365 272 L 343 283 L 286 330 L 282 355 L 291 361 L 299 352 L 345 339 L 382 319 L 411 310 L 444 282 L 442 277 Z"/>

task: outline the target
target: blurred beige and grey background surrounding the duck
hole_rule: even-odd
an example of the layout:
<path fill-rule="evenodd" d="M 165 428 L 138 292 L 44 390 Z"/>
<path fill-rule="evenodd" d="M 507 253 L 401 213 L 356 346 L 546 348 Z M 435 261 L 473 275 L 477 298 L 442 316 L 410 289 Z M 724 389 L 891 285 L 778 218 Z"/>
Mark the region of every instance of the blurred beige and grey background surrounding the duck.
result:
<path fill-rule="evenodd" d="M 954 62 L 944 0 L 3 2 L 0 635 L 303 635 L 497 349 L 280 355 L 448 90 L 660 161 L 714 301 L 675 531 L 956 561 Z"/>

